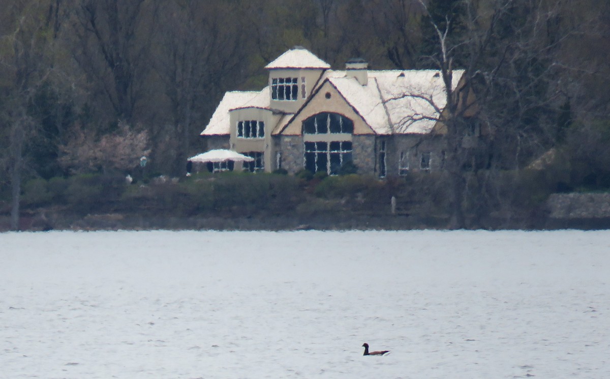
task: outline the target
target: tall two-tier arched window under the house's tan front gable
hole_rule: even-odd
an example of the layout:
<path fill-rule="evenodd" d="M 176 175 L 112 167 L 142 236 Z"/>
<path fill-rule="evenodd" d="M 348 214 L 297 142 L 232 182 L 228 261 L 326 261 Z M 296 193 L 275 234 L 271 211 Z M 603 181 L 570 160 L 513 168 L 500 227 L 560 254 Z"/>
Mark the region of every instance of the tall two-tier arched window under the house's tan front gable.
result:
<path fill-rule="evenodd" d="M 352 160 L 354 123 L 336 113 L 320 113 L 303 121 L 304 167 L 336 175 Z"/>

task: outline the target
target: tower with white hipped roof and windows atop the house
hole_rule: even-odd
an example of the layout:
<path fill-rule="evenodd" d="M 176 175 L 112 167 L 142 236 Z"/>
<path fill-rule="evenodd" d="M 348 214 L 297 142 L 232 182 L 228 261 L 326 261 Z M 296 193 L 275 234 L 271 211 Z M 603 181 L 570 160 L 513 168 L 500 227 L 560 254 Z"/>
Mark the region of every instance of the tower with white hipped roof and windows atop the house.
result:
<path fill-rule="evenodd" d="M 315 84 L 331 65 L 309 50 L 295 46 L 265 66 L 269 70 L 271 109 L 295 113 L 311 95 Z"/>

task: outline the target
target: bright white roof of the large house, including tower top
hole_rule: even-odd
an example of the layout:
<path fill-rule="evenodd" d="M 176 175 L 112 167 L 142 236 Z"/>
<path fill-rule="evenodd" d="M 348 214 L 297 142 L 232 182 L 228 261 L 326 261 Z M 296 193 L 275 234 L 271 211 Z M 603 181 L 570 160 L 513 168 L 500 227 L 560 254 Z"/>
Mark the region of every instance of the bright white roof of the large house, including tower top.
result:
<path fill-rule="evenodd" d="M 330 65 L 303 48 L 284 52 L 265 68 L 329 68 Z M 453 89 L 464 70 L 453 71 Z M 327 70 L 318 86 L 328 80 L 361 115 L 376 134 L 427 134 L 446 103 L 445 87 L 437 70 L 368 71 L 361 85 L 346 71 Z M 256 107 L 270 109 L 270 89 L 260 92 L 227 92 L 201 135 L 229 134 L 229 110 Z M 281 131 L 293 114 L 283 115 L 274 126 Z"/>

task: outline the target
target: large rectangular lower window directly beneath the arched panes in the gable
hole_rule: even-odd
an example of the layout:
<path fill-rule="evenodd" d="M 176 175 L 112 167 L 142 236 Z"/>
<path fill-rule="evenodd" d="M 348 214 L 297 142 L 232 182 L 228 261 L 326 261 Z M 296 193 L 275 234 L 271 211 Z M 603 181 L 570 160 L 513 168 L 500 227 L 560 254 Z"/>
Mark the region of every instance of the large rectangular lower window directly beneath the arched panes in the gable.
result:
<path fill-rule="evenodd" d="M 351 161 L 351 141 L 305 142 L 305 168 L 337 175 L 343 164 Z"/>

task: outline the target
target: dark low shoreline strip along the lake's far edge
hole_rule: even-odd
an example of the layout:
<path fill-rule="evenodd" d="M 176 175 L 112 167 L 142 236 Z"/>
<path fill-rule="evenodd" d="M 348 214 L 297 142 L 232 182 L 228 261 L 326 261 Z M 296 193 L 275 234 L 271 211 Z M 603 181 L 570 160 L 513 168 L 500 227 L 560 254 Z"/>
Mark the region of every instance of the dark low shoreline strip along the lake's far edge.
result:
<path fill-rule="evenodd" d="M 219 230 L 219 231 L 287 231 L 287 230 L 446 230 L 447 218 L 411 215 L 249 215 L 242 217 L 145 217 L 135 214 L 89 214 L 85 217 L 61 214 L 38 214 L 22 217 L 20 231 L 51 230 Z M 556 230 L 610 229 L 610 218 L 537 220 L 486 218 L 467 229 L 484 230 Z M 10 218 L 0 217 L 0 232 L 11 231 Z"/>

